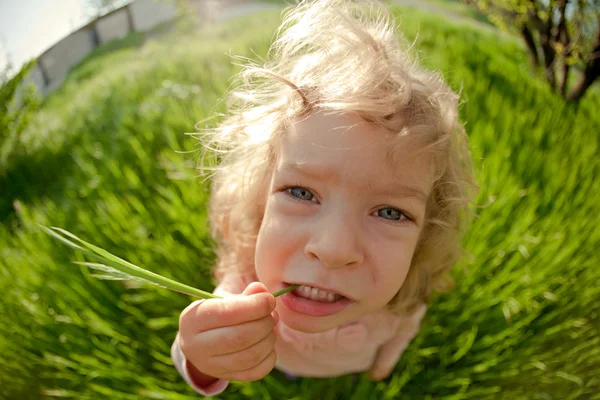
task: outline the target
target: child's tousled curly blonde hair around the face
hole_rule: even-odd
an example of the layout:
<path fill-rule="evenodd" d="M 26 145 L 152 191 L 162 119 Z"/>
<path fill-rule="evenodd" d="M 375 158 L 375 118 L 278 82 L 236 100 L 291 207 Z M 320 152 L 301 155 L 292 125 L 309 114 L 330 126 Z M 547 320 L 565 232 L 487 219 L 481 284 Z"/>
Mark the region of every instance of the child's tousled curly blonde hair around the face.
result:
<path fill-rule="evenodd" d="M 210 223 L 217 279 L 232 269 L 254 274 L 256 238 L 279 141 L 290 124 L 318 111 L 356 113 L 433 155 L 435 181 L 410 270 L 391 309 L 411 313 L 432 291 L 452 287 L 449 270 L 478 187 L 459 96 L 413 61 L 379 1 L 304 1 L 288 9 L 262 65 L 248 64 L 233 91 L 229 117 L 198 134 L 217 155 Z M 412 147 L 412 146 L 411 146 Z M 394 151 L 391 152 L 393 157 Z M 206 166 L 204 170 L 210 169 Z"/>

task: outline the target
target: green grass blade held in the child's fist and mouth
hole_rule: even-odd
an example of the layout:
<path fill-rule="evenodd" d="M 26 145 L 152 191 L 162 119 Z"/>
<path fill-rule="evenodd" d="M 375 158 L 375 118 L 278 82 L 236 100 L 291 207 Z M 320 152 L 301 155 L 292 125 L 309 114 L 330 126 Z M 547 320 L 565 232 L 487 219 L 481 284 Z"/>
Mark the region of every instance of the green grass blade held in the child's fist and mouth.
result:
<path fill-rule="evenodd" d="M 101 249 L 100 247 L 94 246 L 93 244 L 78 238 L 71 232 L 68 232 L 64 229 L 55 227 L 47 228 L 42 225 L 39 226 L 53 238 L 60 240 L 69 247 L 83 252 L 89 258 L 99 261 L 99 263 L 83 262 L 76 264 L 85 265 L 88 268 L 101 271 L 103 275 L 95 275 L 100 279 L 135 280 L 151 285 L 157 285 L 165 289 L 169 289 L 179 293 L 184 293 L 189 296 L 198 297 L 202 299 L 220 298 L 220 296 L 214 295 L 209 292 L 205 292 L 200 289 L 196 289 L 188 285 L 184 285 L 183 283 L 174 281 L 162 275 L 158 275 L 154 272 L 140 268 L 137 265 L 130 263 L 129 261 L 123 260 L 122 258 L 119 258 L 114 254 L 111 254 L 108 251 Z M 285 294 L 290 290 L 294 290 L 299 286 L 300 285 L 289 286 L 283 290 L 275 292 L 273 296 L 281 296 L 282 294 Z"/>

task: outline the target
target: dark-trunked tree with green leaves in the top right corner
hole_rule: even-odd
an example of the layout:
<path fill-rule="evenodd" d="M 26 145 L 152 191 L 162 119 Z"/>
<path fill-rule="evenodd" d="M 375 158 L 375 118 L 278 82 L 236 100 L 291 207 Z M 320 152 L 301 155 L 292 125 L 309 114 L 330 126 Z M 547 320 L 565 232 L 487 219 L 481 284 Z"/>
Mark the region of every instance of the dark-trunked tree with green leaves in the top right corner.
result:
<path fill-rule="evenodd" d="M 558 94 L 578 102 L 600 76 L 600 0 L 463 0 L 521 35 L 534 68 Z M 579 81 L 567 93 L 569 74 Z"/>

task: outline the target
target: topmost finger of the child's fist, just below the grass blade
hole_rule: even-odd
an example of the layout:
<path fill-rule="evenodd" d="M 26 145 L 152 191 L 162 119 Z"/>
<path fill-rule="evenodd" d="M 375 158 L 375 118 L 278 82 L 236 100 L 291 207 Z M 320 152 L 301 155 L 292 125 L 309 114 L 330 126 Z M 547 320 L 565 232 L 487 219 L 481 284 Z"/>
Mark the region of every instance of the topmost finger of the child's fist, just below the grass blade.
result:
<path fill-rule="evenodd" d="M 187 335 L 263 318 L 274 309 L 275 297 L 267 292 L 201 300 L 183 310 L 179 317 L 179 328 L 186 339 Z"/>

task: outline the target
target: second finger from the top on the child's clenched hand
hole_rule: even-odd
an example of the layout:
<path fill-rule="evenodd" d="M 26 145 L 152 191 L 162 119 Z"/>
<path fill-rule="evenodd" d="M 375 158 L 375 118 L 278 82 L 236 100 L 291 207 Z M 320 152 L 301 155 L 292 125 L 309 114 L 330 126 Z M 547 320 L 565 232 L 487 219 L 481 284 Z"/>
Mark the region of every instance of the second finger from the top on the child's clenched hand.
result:
<path fill-rule="evenodd" d="M 271 315 L 236 326 L 216 328 L 197 334 L 193 346 L 206 349 L 206 355 L 217 356 L 242 351 L 260 342 L 273 332 Z"/>

